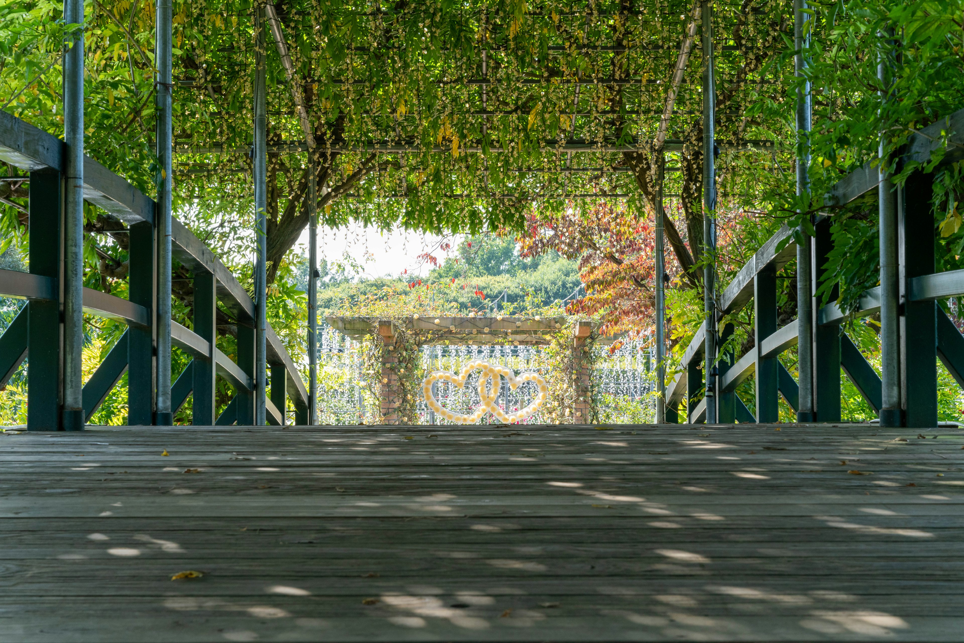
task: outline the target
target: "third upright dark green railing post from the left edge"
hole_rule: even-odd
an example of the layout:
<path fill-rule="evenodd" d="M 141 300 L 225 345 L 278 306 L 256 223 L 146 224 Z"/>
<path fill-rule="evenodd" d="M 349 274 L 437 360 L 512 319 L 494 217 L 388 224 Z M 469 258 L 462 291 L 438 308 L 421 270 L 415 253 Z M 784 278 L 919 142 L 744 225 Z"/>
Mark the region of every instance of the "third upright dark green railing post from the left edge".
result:
<path fill-rule="evenodd" d="M 198 271 L 194 275 L 194 332 L 210 343 L 207 358 L 194 359 L 194 413 L 191 423 L 214 426 L 215 415 L 215 344 L 217 333 L 217 281 L 212 273 Z"/>

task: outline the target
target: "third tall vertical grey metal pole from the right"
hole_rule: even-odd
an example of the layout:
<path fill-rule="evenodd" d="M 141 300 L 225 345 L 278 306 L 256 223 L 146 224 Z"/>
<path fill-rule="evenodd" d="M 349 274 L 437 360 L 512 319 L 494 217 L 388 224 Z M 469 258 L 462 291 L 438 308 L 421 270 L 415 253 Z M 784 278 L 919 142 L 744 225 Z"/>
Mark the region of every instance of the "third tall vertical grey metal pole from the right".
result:
<path fill-rule="evenodd" d="M 703 307 L 706 313 L 707 335 L 704 343 L 706 356 L 707 424 L 716 423 L 716 304 L 714 298 L 714 264 L 716 226 L 715 150 L 716 88 L 713 78 L 713 22 L 712 3 L 704 0 L 703 18 Z"/>

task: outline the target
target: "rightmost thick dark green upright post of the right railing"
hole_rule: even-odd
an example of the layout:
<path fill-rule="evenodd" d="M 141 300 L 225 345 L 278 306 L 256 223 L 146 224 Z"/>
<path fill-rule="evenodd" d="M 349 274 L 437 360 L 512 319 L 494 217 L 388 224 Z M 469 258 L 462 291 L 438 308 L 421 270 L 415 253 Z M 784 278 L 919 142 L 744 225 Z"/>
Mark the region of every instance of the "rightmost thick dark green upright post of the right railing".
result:
<path fill-rule="evenodd" d="M 937 426 L 937 303 L 911 302 L 908 281 L 934 272 L 931 178 L 915 172 L 897 193 L 900 303 L 900 390 L 903 424 Z M 886 359 L 884 356 L 883 359 Z M 886 398 L 884 400 L 886 406 Z M 880 418 L 883 424 L 883 415 Z"/>

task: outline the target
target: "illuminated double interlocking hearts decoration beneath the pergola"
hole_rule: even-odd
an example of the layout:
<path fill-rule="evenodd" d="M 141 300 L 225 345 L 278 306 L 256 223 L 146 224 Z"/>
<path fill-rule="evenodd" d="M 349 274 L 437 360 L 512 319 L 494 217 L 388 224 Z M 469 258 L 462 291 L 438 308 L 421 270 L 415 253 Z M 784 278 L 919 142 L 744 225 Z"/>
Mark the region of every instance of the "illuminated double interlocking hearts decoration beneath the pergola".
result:
<path fill-rule="evenodd" d="M 469 373 L 475 369 L 481 369 L 482 373 L 479 375 L 478 391 L 479 399 L 482 400 L 482 406 L 476 409 L 472 414 L 461 414 L 454 413 L 448 409 L 442 408 L 438 400 L 435 399 L 435 395 L 432 394 L 432 385 L 436 382 L 449 382 L 454 384 L 457 388 L 463 388 L 466 386 L 466 380 L 469 379 Z M 502 382 L 502 378 L 505 378 L 509 383 L 509 388 L 515 390 L 519 388 L 524 382 L 535 382 L 539 387 L 539 393 L 536 395 L 535 399 L 520 411 L 515 411 L 511 414 L 507 414 L 502 411 L 495 404 L 495 400 L 498 397 L 498 388 Z M 486 383 L 491 383 L 489 390 L 492 392 L 486 392 Z M 519 422 L 526 417 L 534 415 L 543 404 L 546 403 L 549 397 L 549 388 L 546 386 L 546 380 L 542 378 L 539 373 L 534 373 L 532 371 L 527 371 L 522 373 L 519 377 L 512 371 L 511 368 L 506 368 L 505 366 L 493 365 L 489 362 L 482 362 L 480 360 L 472 360 L 462 367 L 462 372 L 456 375 L 452 371 L 448 370 L 436 370 L 428 374 L 425 381 L 422 382 L 422 393 L 425 395 L 425 402 L 428 404 L 428 408 L 434 411 L 437 415 L 441 415 L 445 419 L 451 422 L 458 422 L 460 424 L 472 424 L 474 422 L 482 419 L 483 415 L 486 413 L 491 413 L 495 415 L 495 418 L 500 422 L 505 422 L 506 424 L 512 424 Z"/>

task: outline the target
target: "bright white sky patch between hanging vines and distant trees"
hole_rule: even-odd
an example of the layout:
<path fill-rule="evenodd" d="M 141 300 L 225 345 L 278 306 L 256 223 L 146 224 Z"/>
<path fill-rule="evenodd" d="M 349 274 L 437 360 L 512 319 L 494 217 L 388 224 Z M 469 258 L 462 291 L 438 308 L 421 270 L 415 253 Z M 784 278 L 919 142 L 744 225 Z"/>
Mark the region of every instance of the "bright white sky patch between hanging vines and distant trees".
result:
<path fill-rule="evenodd" d="M 441 263 L 446 256 L 438 250 L 443 240 L 453 241 L 451 237 L 397 229 L 383 234 L 377 228 L 365 228 L 354 222 L 347 228 L 318 228 L 318 262 L 326 259 L 331 264 L 342 259 L 347 252 L 362 264 L 361 277 L 397 277 L 406 269 L 406 276 L 424 277 L 433 266 L 418 258 L 418 255 L 432 252 Z M 460 240 L 461 236 L 454 239 L 455 242 Z M 307 255 L 308 228 L 302 232 L 298 243 L 304 247 Z M 452 243 L 453 248 L 456 245 Z M 354 271 L 349 269 L 349 272 Z"/>

